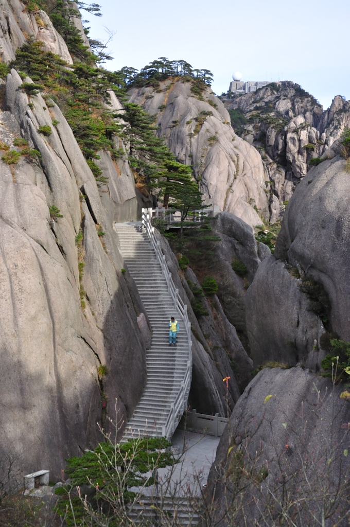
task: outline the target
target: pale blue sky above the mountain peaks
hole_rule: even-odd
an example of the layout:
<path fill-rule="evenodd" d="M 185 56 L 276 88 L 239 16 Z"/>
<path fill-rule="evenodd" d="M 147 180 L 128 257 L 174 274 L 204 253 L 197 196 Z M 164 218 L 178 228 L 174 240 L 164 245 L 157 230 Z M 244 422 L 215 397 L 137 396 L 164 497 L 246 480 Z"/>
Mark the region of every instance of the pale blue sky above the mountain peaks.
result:
<path fill-rule="evenodd" d="M 155 58 L 186 60 L 214 75 L 226 92 L 234 71 L 242 81 L 297 82 L 328 108 L 350 99 L 349 0 L 97 0 L 102 17 L 82 11 L 90 35 L 106 39 L 114 60 L 104 66 L 138 70 Z"/>

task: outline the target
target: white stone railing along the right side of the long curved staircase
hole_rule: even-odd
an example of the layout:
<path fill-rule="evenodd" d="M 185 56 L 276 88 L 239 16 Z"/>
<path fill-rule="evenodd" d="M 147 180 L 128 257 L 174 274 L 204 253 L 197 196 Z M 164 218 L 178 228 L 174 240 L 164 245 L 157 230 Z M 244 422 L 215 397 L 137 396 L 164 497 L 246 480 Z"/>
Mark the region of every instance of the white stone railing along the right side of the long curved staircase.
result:
<path fill-rule="evenodd" d="M 168 269 L 166 257 L 163 255 L 160 243 L 155 239 L 154 236 L 154 227 L 151 223 L 151 211 L 152 209 L 142 209 L 142 227 L 147 233 L 151 246 L 153 247 L 159 264 L 162 268 L 162 273 L 166 279 L 168 292 L 171 298 L 173 299 L 176 307 L 178 308 L 180 315 L 183 318 L 183 325 L 186 330 L 187 340 L 188 340 L 188 360 L 186 373 L 184 375 L 183 381 L 181 382 L 180 389 L 176 395 L 174 395 L 173 403 L 170 405 L 170 413 L 166 425 L 163 426 L 162 435 L 166 436 L 168 439 L 171 438 L 172 434 L 176 430 L 177 425 L 182 417 L 184 411 L 186 411 L 188 395 L 190 393 L 191 379 L 192 379 L 192 340 L 191 340 L 191 323 L 187 315 L 187 306 L 184 304 L 182 299 L 179 296 L 179 290 L 175 287 L 172 280 L 171 273 Z"/>

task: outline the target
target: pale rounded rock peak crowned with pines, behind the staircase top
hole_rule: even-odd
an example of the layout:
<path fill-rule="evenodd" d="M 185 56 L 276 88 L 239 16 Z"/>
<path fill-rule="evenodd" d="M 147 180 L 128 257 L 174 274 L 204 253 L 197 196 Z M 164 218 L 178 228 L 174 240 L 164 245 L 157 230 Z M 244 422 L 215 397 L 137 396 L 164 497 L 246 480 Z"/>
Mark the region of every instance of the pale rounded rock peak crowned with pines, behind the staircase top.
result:
<path fill-rule="evenodd" d="M 258 213 L 269 218 L 260 154 L 235 134 L 228 112 L 209 88 L 200 99 L 190 82 L 168 79 L 157 90 L 132 88 L 128 93 L 130 102 L 157 115 L 158 133 L 178 161 L 195 166 L 207 203 L 253 227 L 261 225 Z"/>

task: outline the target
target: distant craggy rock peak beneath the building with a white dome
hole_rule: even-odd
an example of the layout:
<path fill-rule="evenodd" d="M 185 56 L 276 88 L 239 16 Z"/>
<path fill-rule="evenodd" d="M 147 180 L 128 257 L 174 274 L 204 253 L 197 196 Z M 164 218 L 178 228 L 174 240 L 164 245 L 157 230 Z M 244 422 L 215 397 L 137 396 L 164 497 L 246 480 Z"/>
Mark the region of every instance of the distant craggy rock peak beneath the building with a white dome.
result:
<path fill-rule="evenodd" d="M 270 221 L 276 222 L 283 216 L 283 202 L 309 170 L 310 160 L 339 153 L 332 145 L 350 124 L 349 102 L 337 95 L 323 111 L 312 95 L 285 81 L 254 93 L 224 97 L 223 103 L 228 110 L 244 114 L 246 124 L 239 133 L 263 157 L 271 182 Z"/>

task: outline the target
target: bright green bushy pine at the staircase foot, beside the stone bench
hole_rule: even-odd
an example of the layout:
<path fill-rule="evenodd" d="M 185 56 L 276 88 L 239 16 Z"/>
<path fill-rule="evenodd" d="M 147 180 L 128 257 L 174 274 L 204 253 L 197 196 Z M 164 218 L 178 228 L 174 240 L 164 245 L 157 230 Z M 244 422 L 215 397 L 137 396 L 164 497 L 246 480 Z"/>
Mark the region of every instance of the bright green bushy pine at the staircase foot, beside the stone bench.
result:
<path fill-rule="evenodd" d="M 172 466 L 176 462 L 170 452 L 170 446 L 171 443 L 164 437 L 135 438 L 116 445 L 106 440 L 104 443 L 99 443 L 93 452 L 89 450 L 80 457 L 70 457 L 66 460 L 67 467 L 64 472 L 69 476 L 71 485 L 59 487 L 67 490 L 57 492 L 62 497 L 57 502 L 56 512 L 64 517 L 64 524 L 67 527 L 86 525 L 83 519 L 83 501 L 73 495 L 71 502 L 69 502 L 66 499 L 66 494 L 72 486 L 91 485 L 92 489 L 95 487 L 95 503 L 99 506 L 99 511 L 96 513 L 99 514 L 99 519 L 103 518 L 103 525 L 110 525 L 111 527 L 112 525 L 115 527 L 117 525 L 129 525 L 129 521 L 126 523 L 119 521 L 120 518 L 116 516 L 119 510 L 114 510 L 108 506 L 109 497 L 114 496 L 116 503 L 118 501 L 122 503 L 118 509 L 128 508 L 128 504 L 132 503 L 137 496 L 137 493 L 130 490 L 132 487 L 152 485 L 154 477 L 147 475 L 148 472 L 152 473 L 154 468 L 161 469 Z M 83 497 L 84 495 L 82 495 Z M 104 507 L 103 502 L 107 506 Z M 74 510 L 74 516 L 70 503 Z M 115 521 L 116 518 L 117 521 Z M 96 525 L 95 522 L 93 523 Z M 87 524 L 90 522 L 88 521 Z"/>

